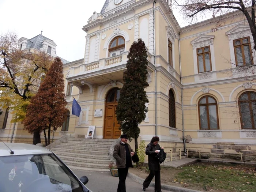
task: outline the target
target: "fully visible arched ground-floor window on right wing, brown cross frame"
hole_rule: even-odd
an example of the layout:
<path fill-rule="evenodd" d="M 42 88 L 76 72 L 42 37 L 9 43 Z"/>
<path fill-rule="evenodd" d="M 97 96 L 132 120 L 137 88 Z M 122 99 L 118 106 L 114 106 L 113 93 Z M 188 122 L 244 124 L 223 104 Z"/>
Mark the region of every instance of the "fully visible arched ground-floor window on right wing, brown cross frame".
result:
<path fill-rule="evenodd" d="M 198 106 L 200 129 L 219 129 L 217 101 L 205 96 L 199 100 Z"/>

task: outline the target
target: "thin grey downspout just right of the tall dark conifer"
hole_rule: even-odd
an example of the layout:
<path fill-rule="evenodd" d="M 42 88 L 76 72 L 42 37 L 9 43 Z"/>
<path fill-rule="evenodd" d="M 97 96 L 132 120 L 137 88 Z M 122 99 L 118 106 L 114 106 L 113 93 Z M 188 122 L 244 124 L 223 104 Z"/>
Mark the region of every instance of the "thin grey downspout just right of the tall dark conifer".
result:
<path fill-rule="evenodd" d="M 156 51 L 155 51 L 155 4 L 153 2 L 153 17 L 154 17 L 154 65 L 155 65 L 155 136 L 157 136 L 157 59 L 156 59 Z"/>

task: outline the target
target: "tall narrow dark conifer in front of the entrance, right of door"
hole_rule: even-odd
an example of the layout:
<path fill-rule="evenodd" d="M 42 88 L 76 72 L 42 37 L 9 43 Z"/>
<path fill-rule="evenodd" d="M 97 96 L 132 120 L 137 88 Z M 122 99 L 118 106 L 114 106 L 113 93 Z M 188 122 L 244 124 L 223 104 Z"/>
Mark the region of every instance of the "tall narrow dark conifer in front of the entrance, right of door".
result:
<path fill-rule="evenodd" d="M 138 125 L 146 118 L 148 98 L 145 88 L 147 83 L 147 50 L 142 39 L 133 42 L 127 56 L 127 70 L 124 72 L 124 86 L 120 90 L 116 115 L 123 133 L 131 141 L 135 139 L 135 150 L 138 149 L 140 129 Z"/>

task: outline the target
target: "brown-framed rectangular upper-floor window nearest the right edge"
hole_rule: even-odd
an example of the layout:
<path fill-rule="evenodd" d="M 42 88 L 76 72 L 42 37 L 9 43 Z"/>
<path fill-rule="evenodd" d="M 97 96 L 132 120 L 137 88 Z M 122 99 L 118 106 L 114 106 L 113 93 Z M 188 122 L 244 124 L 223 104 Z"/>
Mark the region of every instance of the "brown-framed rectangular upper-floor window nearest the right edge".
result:
<path fill-rule="evenodd" d="M 249 37 L 233 40 L 236 65 L 253 65 L 252 49 Z"/>

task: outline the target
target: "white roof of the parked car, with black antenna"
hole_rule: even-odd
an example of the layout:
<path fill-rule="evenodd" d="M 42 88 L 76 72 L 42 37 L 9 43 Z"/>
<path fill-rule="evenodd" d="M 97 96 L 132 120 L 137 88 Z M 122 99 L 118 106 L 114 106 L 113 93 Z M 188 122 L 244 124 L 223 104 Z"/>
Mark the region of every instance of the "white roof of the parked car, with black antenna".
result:
<path fill-rule="evenodd" d="M 3 156 L 16 156 L 16 155 L 35 155 L 35 154 L 52 154 L 52 152 L 44 147 L 35 146 L 25 143 L 5 143 L 14 154 L 11 154 L 10 150 L 0 142 L 0 157 Z"/>

